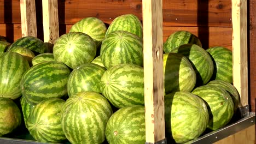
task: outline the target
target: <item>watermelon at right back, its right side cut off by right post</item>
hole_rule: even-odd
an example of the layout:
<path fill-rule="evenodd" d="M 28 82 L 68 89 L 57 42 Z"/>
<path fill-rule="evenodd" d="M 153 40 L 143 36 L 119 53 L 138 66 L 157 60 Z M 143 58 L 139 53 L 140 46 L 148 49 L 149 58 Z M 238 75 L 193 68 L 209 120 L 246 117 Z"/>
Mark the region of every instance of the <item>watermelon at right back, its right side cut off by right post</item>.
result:
<path fill-rule="evenodd" d="M 206 51 L 211 55 L 214 64 L 211 80 L 223 80 L 232 83 L 232 51 L 223 46 L 210 47 Z"/>

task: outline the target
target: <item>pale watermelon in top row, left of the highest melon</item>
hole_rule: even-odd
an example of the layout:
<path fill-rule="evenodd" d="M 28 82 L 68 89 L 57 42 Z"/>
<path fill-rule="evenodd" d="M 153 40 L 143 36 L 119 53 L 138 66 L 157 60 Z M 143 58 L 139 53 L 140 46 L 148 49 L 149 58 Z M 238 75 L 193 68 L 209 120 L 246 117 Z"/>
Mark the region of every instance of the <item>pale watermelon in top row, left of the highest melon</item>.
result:
<path fill-rule="evenodd" d="M 107 27 L 104 22 L 96 17 L 86 17 L 76 22 L 69 30 L 69 32 L 82 32 L 90 35 L 96 44 L 105 38 L 106 31 Z"/>

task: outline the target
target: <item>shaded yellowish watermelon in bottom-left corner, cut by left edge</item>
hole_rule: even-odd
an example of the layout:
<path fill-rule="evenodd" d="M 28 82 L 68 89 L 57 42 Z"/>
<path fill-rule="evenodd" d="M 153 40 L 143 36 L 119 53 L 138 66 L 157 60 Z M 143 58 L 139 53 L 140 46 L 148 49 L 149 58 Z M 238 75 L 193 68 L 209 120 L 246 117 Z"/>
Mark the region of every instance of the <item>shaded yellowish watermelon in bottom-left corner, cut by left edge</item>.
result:
<path fill-rule="evenodd" d="M 9 98 L 0 98 L 0 136 L 9 134 L 21 124 L 19 107 Z"/>

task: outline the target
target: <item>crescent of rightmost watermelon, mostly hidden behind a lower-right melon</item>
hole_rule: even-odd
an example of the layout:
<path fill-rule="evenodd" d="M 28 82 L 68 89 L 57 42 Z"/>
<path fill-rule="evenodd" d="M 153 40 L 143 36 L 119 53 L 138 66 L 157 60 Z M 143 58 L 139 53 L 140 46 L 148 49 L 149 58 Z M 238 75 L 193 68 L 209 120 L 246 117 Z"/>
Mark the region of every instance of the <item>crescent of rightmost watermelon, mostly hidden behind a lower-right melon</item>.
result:
<path fill-rule="evenodd" d="M 207 85 L 214 85 L 214 86 L 224 88 L 230 94 L 233 100 L 234 113 L 236 113 L 238 104 L 240 104 L 240 96 L 239 96 L 239 93 L 237 92 L 237 89 L 233 85 L 222 80 L 213 80 L 207 83 Z"/>

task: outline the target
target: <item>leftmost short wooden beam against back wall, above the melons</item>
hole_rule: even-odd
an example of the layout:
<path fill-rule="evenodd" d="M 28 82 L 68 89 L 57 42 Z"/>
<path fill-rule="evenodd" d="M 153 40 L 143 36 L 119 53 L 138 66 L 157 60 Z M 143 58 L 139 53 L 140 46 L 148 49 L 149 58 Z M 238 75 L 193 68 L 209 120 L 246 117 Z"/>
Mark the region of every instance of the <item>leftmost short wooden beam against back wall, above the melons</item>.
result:
<path fill-rule="evenodd" d="M 35 0 L 20 0 L 22 37 L 37 37 L 37 19 Z"/>

